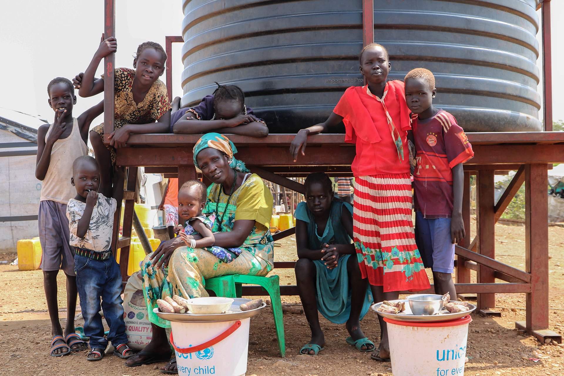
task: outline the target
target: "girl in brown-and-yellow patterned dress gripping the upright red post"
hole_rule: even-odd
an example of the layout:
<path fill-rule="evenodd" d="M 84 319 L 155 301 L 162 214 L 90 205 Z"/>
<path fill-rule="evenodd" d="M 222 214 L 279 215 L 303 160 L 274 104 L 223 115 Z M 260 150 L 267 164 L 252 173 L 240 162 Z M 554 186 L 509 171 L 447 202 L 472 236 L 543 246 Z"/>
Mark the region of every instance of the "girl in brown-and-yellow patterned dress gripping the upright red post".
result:
<path fill-rule="evenodd" d="M 102 38 L 104 36 L 102 35 Z M 107 38 L 84 73 L 74 79 L 74 86 L 82 97 L 104 91 L 104 76 L 94 73 L 105 56 L 117 50 L 116 38 Z M 165 84 L 158 79 L 165 72 L 165 50 L 155 42 L 144 42 L 137 47 L 133 68 L 114 70 L 114 125 L 109 145 L 104 144 L 104 124 L 90 131 L 90 142 L 100 165 L 100 179 L 111 181 L 116 165 L 116 149 L 125 147 L 130 134 L 165 133 L 170 123 L 170 101 Z"/>

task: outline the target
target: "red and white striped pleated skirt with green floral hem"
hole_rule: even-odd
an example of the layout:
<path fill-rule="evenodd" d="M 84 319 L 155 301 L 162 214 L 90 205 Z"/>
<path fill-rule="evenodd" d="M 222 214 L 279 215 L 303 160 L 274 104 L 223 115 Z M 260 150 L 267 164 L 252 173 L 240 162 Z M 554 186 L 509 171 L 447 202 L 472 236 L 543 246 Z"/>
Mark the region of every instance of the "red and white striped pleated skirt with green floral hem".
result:
<path fill-rule="evenodd" d="M 356 176 L 352 214 L 363 278 L 388 291 L 430 287 L 415 244 L 409 174 Z"/>

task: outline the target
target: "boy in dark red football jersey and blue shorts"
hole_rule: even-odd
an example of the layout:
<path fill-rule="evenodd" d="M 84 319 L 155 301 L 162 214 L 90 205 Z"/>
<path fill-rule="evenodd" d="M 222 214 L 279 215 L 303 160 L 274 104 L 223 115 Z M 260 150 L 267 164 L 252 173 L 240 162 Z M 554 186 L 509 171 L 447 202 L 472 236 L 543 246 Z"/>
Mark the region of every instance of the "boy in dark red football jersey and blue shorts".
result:
<path fill-rule="evenodd" d="M 450 293 L 455 243 L 464 236 L 462 221 L 462 163 L 474 156 L 472 145 L 448 112 L 433 107 L 437 94 L 430 70 L 411 70 L 404 79 L 407 106 L 412 112 L 416 166 L 415 238 L 425 266 L 433 269 L 435 293 Z"/>

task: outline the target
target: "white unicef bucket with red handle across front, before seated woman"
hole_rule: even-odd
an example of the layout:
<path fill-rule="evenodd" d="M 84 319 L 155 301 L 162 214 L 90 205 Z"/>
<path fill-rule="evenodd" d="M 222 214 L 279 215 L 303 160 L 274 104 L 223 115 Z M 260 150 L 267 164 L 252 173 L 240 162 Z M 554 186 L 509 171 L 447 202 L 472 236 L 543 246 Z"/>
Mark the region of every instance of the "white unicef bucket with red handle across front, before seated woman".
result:
<path fill-rule="evenodd" d="M 222 322 L 171 321 L 180 376 L 243 376 L 249 350 L 250 318 Z"/>

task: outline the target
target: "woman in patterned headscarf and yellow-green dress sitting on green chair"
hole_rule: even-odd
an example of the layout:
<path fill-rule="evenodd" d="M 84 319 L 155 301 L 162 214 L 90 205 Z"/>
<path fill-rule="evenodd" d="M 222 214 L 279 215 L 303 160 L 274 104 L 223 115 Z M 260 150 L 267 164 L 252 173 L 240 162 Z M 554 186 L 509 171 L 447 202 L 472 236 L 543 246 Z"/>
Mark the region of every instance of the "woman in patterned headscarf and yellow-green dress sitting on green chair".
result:
<path fill-rule="evenodd" d="M 126 361 L 127 366 L 165 361 L 172 355 L 165 334 L 170 322 L 153 313 L 157 299 L 173 295 L 187 299 L 207 297 L 204 286 L 208 278 L 266 276 L 272 270 L 272 194 L 258 175 L 250 174 L 245 164 L 233 157 L 236 152 L 235 145 L 218 133 L 205 134 L 193 149 L 194 165 L 212 182 L 203 213 L 215 215 L 214 246 L 238 248 L 240 253 L 232 253 L 231 261 L 226 263 L 211 253 L 211 248 L 192 249 L 178 236 L 148 255 L 142 263 L 142 276 L 153 337 L 143 351 Z M 175 362 L 173 357 L 161 370 L 177 373 Z"/>

